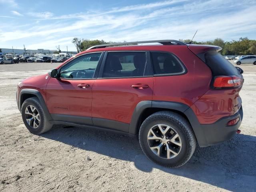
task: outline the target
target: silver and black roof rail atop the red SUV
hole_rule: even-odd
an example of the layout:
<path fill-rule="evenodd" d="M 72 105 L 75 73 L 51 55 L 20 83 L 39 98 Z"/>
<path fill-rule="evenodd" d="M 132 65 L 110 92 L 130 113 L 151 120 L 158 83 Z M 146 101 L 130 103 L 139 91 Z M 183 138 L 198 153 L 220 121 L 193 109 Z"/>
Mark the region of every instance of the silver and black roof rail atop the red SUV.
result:
<path fill-rule="evenodd" d="M 110 43 L 110 44 L 95 45 L 86 50 L 96 49 L 96 48 L 105 48 L 108 46 L 142 44 L 142 43 L 160 43 L 163 45 L 186 45 L 185 43 L 177 41 L 177 40 L 152 40 L 152 41 L 134 41 L 134 42 L 122 42 L 122 43 Z"/>

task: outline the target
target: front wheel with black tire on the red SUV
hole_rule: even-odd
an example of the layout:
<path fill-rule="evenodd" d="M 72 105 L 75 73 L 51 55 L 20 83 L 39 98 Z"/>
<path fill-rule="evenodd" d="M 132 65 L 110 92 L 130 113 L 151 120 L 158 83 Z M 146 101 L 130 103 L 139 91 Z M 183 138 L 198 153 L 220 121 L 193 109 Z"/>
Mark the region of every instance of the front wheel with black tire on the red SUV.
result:
<path fill-rule="evenodd" d="M 36 110 L 34 110 L 34 114 L 39 114 L 40 121 L 38 121 L 38 118 L 35 118 L 35 119 L 30 120 L 31 123 L 28 124 L 26 119 L 33 118 L 33 116 L 30 115 L 30 114 L 33 114 L 32 110 L 31 110 L 32 109 L 31 106 L 36 109 Z M 29 114 L 25 114 L 25 112 L 27 112 Z M 22 107 L 21 107 L 21 114 L 22 114 L 22 120 L 23 120 L 26 128 L 31 133 L 42 134 L 44 132 L 49 131 L 52 128 L 52 124 L 50 124 L 48 122 L 46 115 L 44 113 L 44 110 L 43 110 L 37 97 L 28 98 L 23 102 Z M 35 124 L 33 124 L 33 120 L 34 120 L 34 122 L 36 122 L 37 127 L 36 126 L 34 128 L 32 127 L 33 125 L 35 125 Z"/>

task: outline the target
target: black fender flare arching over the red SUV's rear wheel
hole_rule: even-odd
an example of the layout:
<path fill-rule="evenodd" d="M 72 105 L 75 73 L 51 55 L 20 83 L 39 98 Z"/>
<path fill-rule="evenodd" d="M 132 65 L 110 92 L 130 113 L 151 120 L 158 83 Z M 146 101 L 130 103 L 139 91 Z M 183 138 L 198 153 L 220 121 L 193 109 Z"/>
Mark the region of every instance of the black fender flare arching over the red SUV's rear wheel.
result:
<path fill-rule="evenodd" d="M 184 114 L 188 121 L 190 122 L 192 129 L 196 135 L 198 140 L 198 144 L 203 146 L 203 143 L 206 143 L 206 138 L 204 136 L 204 132 L 202 131 L 202 126 L 194 114 L 194 111 L 186 104 L 180 102 L 169 102 L 169 101 L 141 101 L 137 104 L 132 114 L 132 119 L 129 126 L 130 134 L 138 134 L 138 123 L 141 117 L 141 114 L 144 110 L 148 108 L 162 108 L 163 110 L 176 110 Z"/>

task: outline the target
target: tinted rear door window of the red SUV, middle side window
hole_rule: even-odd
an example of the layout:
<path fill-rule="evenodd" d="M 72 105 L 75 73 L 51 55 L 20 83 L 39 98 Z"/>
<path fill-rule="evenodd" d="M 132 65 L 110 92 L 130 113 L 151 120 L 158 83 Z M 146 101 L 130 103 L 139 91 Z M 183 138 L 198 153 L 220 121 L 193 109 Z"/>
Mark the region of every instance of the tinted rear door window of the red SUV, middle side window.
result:
<path fill-rule="evenodd" d="M 144 76 L 145 52 L 108 52 L 103 77 Z"/>

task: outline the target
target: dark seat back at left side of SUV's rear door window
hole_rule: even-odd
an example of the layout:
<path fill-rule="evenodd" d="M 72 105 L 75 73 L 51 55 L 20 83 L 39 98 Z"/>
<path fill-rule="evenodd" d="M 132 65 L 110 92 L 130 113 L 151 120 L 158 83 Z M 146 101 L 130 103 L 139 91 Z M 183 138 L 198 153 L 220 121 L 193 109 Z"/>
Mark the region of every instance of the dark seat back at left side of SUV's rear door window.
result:
<path fill-rule="evenodd" d="M 121 76 L 122 65 L 119 58 L 110 56 L 107 58 L 103 77 L 119 77 Z"/>

